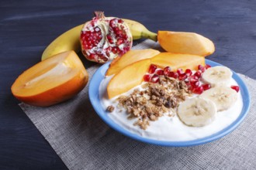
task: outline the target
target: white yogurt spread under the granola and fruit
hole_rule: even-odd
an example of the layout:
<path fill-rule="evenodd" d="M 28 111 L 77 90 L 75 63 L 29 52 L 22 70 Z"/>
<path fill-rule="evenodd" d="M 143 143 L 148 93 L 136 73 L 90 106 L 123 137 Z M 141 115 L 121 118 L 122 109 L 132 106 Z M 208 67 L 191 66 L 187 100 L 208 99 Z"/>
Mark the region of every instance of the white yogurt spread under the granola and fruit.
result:
<path fill-rule="evenodd" d="M 164 115 L 159 117 L 157 121 L 150 121 L 150 126 L 148 126 L 146 130 L 143 130 L 139 126 L 133 125 L 134 122 L 137 121 L 137 118 L 131 120 L 127 119 L 128 114 L 126 114 L 126 110 L 123 109 L 120 112 L 119 109 L 116 108 L 118 102 L 115 101 L 115 99 L 117 97 L 111 100 L 107 97 L 106 87 L 111 77 L 112 76 L 106 77 L 102 80 L 99 86 L 99 97 L 102 99 L 102 107 L 106 108 L 109 105 L 114 106 L 115 110 L 108 114 L 109 117 L 111 117 L 112 120 L 122 128 L 144 138 L 160 141 L 190 141 L 204 138 L 227 128 L 227 126 L 232 124 L 237 117 L 239 117 L 243 108 L 243 100 L 239 91 L 236 103 L 228 110 L 217 112 L 215 120 L 209 125 L 200 128 L 189 127 L 183 124 L 177 115 L 175 115 L 175 117 L 168 117 L 167 115 Z M 230 84 L 237 85 L 237 82 L 233 79 Z M 134 87 L 132 90 L 123 94 L 128 95 L 129 93 L 132 93 L 135 88 L 141 88 L 141 85 Z"/>

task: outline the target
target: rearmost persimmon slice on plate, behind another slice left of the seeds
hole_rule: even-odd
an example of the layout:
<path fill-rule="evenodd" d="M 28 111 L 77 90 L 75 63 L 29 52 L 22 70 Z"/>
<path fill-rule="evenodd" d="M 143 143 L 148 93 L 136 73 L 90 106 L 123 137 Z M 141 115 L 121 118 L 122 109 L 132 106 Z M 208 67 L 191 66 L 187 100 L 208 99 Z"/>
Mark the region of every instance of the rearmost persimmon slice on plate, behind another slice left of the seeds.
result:
<path fill-rule="evenodd" d="M 118 73 L 125 66 L 135 63 L 141 59 L 148 59 L 156 56 L 160 52 L 155 49 L 134 49 L 125 53 L 123 56 L 119 56 L 112 61 L 109 69 L 106 72 L 106 76 Z"/>

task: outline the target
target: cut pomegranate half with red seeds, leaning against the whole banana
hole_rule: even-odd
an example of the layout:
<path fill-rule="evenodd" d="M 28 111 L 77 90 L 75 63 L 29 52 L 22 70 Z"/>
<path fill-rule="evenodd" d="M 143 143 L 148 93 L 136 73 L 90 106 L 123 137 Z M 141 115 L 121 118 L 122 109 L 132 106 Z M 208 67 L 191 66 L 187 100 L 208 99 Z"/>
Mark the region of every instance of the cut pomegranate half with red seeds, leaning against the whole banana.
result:
<path fill-rule="evenodd" d="M 106 63 L 129 51 L 133 36 L 122 19 L 95 12 L 92 21 L 86 22 L 81 29 L 80 42 L 81 51 L 88 60 Z"/>

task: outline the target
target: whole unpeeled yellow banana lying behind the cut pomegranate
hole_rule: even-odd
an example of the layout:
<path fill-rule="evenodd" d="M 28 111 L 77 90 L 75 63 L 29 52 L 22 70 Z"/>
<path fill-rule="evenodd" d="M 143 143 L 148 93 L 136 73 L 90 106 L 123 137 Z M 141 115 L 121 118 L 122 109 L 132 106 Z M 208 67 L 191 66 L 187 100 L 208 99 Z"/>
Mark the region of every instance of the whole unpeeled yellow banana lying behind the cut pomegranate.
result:
<path fill-rule="evenodd" d="M 140 22 L 136 22 L 130 19 L 123 19 L 123 21 L 126 22 L 126 24 L 130 27 L 130 32 L 132 33 L 134 40 L 146 38 L 157 41 L 157 34 L 154 32 L 150 32 Z M 61 34 L 61 36 L 58 36 L 56 39 L 54 39 L 54 41 L 51 42 L 46 49 L 44 49 L 41 59 L 47 59 L 50 56 L 54 56 L 55 54 L 62 53 L 64 51 L 80 51 L 80 32 L 82 26 L 84 26 L 84 24 L 76 26 L 73 29 L 64 32 L 63 34 Z"/>

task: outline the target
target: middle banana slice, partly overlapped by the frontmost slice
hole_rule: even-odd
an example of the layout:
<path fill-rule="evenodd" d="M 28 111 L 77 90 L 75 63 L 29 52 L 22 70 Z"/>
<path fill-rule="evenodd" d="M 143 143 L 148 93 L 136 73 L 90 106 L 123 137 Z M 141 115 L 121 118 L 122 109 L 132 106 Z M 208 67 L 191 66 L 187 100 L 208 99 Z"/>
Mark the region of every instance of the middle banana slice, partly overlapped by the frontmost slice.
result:
<path fill-rule="evenodd" d="M 204 91 L 199 97 L 212 100 L 218 111 L 227 110 L 237 100 L 237 92 L 230 87 L 213 87 Z"/>

